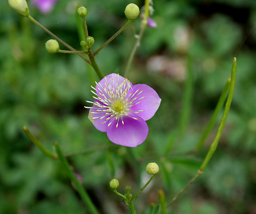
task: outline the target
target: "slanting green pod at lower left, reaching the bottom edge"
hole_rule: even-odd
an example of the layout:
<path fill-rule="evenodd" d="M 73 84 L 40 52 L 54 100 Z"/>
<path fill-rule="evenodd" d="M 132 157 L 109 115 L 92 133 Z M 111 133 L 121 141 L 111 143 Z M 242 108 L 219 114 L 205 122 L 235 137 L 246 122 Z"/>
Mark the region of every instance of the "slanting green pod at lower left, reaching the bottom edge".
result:
<path fill-rule="evenodd" d="M 63 156 L 61 149 L 59 148 L 57 142 L 54 142 L 54 147 L 56 149 L 56 152 L 59 156 L 59 160 L 61 161 L 61 163 L 64 165 L 64 168 L 66 169 L 66 172 L 68 174 L 68 177 L 72 180 L 72 182 L 76 185 L 77 188 L 77 192 L 79 193 L 79 195 L 81 196 L 84 204 L 87 205 L 88 210 L 92 213 L 92 214 L 100 214 L 98 212 L 98 210 L 96 209 L 95 205 L 92 203 L 91 198 L 89 197 L 88 193 L 86 192 L 86 190 L 83 188 L 82 184 L 78 181 L 78 179 L 76 178 L 76 175 L 74 175 L 74 173 L 72 172 L 67 159 Z"/>

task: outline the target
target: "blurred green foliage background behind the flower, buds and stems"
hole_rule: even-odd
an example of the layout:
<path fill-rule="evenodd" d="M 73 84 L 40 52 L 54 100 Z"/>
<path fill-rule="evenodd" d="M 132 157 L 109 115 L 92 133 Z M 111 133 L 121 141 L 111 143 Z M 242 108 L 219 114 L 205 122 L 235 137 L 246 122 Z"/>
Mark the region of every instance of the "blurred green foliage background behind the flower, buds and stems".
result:
<path fill-rule="evenodd" d="M 125 24 L 123 11 L 131 2 L 59 0 L 43 15 L 28 1 L 36 20 L 81 50 L 76 3 L 88 9 L 88 31 L 96 50 Z M 134 3 L 141 7 L 144 1 Z M 137 213 L 147 214 L 150 205 L 158 203 L 159 188 L 169 202 L 195 175 L 216 134 L 221 115 L 204 147 L 186 154 L 211 118 L 231 75 L 233 57 L 256 25 L 256 1 L 154 1 L 152 18 L 158 27 L 145 30 L 128 78 L 153 87 L 162 101 L 147 121 L 148 138 L 137 148 L 110 143 L 87 118 L 83 106 L 85 100 L 92 101 L 90 85 L 98 81 L 92 68 L 77 55 L 49 54 L 44 46 L 51 39 L 48 34 L 18 16 L 7 0 L 0 1 L 0 8 L 0 213 L 86 212 L 62 164 L 40 153 L 25 136 L 24 125 L 51 152 L 53 141 L 64 154 L 92 149 L 68 160 L 101 213 L 130 213 L 108 182 L 117 178 L 119 192 L 125 193 L 129 184 L 136 193 L 150 177 L 145 172 L 149 162 L 158 163 L 160 173 L 135 201 Z M 96 56 L 104 75 L 124 73 L 139 28 L 138 18 Z M 168 213 L 256 213 L 255 47 L 256 29 L 236 54 L 236 88 L 217 151 Z M 180 123 L 188 56 L 193 72 L 190 113 L 183 136 L 171 145 Z"/>

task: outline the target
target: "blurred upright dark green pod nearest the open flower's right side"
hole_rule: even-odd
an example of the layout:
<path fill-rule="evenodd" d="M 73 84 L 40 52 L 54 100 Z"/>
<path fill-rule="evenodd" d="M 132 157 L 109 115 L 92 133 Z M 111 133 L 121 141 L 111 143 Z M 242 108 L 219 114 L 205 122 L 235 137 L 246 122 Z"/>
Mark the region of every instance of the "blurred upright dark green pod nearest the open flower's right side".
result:
<path fill-rule="evenodd" d="M 184 133 L 190 118 L 190 112 L 192 107 L 192 96 L 193 96 L 193 71 L 192 71 L 192 57 L 188 55 L 188 72 L 187 79 L 185 82 L 185 92 L 182 101 L 182 109 L 180 113 L 179 121 L 179 136 Z"/>

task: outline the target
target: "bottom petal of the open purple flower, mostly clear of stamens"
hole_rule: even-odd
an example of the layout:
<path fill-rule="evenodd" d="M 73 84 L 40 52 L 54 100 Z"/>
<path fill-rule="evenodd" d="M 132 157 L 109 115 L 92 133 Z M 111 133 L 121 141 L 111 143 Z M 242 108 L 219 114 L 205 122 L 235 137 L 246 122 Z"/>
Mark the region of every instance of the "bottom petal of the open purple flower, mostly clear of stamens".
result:
<path fill-rule="evenodd" d="M 120 118 L 117 128 L 117 120 L 113 119 L 112 123 L 107 128 L 107 137 L 115 144 L 127 147 L 137 147 L 147 138 L 149 127 L 144 119 L 138 117 L 136 114 L 129 113 L 129 116 L 122 117 L 124 124 L 122 124 Z M 136 117 L 137 119 L 132 117 Z"/>

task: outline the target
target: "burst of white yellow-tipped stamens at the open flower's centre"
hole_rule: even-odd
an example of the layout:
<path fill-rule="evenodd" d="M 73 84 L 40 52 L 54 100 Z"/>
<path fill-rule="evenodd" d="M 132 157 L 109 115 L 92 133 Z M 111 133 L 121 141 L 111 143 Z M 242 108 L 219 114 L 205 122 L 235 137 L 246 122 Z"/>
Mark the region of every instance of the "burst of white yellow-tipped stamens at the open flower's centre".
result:
<path fill-rule="evenodd" d="M 110 80 L 107 80 L 105 77 L 105 82 L 101 84 L 100 82 L 95 82 L 96 87 L 92 87 L 94 91 L 91 90 L 91 92 L 96 95 L 92 96 L 95 99 L 95 102 L 86 101 L 88 103 L 92 103 L 92 107 L 86 107 L 85 108 L 94 108 L 96 111 L 91 111 L 90 114 L 97 114 L 101 113 L 100 116 L 92 117 L 92 119 L 100 118 L 100 120 L 105 119 L 102 124 L 109 122 L 111 118 L 112 121 L 108 123 L 108 126 L 113 121 L 117 121 L 116 128 L 118 127 L 119 121 L 124 124 L 123 117 L 129 116 L 131 118 L 134 118 L 137 120 L 136 117 L 132 117 L 129 115 L 129 113 L 140 113 L 144 110 L 132 110 L 130 109 L 132 106 L 139 104 L 141 99 L 143 97 L 138 97 L 143 90 L 137 90 L 134 93 L 132 93 L 132 87 L 130 84 L 130 81 L 125 79 L 121 83 L 119 82 L 119 74 L 117 76 L 117 81 L 114 82 L 114 80 L 110 77 Z M 129 92 L 129 93 L 128 93 Z M 102 114 L 104 113 L 104 114 Z"/>

